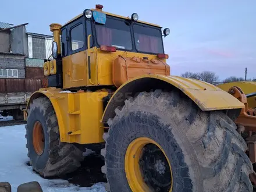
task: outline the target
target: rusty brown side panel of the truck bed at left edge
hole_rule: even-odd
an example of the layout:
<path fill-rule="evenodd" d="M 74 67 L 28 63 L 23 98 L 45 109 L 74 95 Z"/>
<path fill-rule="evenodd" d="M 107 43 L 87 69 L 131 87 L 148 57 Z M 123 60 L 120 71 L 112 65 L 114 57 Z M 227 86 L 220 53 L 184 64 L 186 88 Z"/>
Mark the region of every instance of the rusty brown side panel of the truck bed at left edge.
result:
<path fill-rule="evenodd" d="M 46 79 L 0 79 L 0 93 L 34 92 L 47 86 Z"/>

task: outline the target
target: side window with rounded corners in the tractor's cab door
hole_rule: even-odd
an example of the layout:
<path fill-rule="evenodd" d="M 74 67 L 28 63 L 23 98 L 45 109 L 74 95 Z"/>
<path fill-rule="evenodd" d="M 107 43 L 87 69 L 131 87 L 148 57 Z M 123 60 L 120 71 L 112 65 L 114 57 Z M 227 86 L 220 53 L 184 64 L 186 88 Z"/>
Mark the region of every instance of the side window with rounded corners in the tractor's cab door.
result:
<path fill-rule="evenodd" d="M 79 24 L 71 29 L 71 48 L 76 51 L 84 47 L 84 29 L 83 24 Z"/>

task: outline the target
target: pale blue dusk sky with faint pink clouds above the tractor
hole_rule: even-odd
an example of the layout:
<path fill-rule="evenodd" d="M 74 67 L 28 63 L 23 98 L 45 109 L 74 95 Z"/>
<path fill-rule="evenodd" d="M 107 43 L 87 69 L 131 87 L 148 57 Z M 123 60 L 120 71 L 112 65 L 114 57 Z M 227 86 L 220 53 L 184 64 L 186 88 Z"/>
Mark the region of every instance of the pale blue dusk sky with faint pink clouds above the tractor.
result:
<path fill-rule="evenodd" d="M 168 27 L 163 42 L 172 75 L 209 70 L 223 80 L 244 77 L 247 67 L 247 77 L 256 79 L 255 0 L 12 0 L 1 2 L 0 21 L 29 23 L 28 32 L 51 35 L 49 24 L 65 24 L 95 4 Z"/>

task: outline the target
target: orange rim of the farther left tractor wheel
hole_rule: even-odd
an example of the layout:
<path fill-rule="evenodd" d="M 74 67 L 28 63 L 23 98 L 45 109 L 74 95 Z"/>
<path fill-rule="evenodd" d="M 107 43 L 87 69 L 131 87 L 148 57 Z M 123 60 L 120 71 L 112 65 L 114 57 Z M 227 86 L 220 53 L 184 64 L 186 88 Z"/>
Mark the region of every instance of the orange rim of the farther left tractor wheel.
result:
<path fill-rule="evenodd" d="M 35 122 L 33 127 L 33 145 L 37 155 L 42 155 L 44 152 L 44 130 L 40 122 Z"/>

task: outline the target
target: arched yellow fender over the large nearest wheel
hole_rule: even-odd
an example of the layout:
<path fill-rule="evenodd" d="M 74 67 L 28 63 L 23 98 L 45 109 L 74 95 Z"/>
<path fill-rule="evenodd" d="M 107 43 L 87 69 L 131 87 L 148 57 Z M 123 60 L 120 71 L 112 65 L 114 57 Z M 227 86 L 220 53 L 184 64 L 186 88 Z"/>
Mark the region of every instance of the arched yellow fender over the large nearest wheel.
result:
<path fill-rule="evenodd" d="M 142 91 L 151 89 L 179 88 L 184 94 L 192 99 L 202 111 L 214 111 L 223 109 L 241 109 L 244 104 L 232 95 L 210 83 L 187 79 L 179 76 L 164 76 L 147 74 L 127 81 L 113 94 L 104 111 L 101 122 L 106 122 L 115 116 L 115 108 L 123 106 L 125 99 L 134 97 Z"/>

